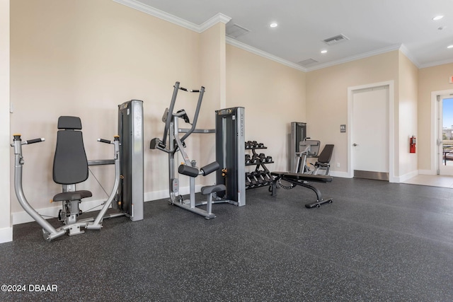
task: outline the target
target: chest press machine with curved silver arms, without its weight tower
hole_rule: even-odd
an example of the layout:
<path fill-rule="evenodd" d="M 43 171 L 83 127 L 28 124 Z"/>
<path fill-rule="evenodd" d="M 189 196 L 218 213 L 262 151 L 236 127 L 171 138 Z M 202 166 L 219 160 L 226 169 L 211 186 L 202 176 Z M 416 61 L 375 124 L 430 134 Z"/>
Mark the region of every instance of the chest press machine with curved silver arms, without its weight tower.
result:
<path fill-rule="evenodd" d="M 62 209 L 59 210 L 58 219 L 63 225 L 55 228 L 42 215 L 38 213 L 25 198 L 22 187 L 22 171 L 24 165 L 22 146 L 35 144 L 45 139 L 30 139 L 22 141 L 21 134 L 13 135 L 14 148 L 14 188 L 19 204 L 23 209 L 42 227 L 42 236 L 47 241 L 51 241 L 59 236 L 68 233 L 69 236 L 84 233 L 82 228 L 101 230 L 103 219 L 116 216 L 129 216 L 132 221 L 143 219 L 143 205 L 140 201 L 135 201 L 133 207 L 132 199 L 117 200 L 117 192 L 122 187 L 120 167 L 120 137 L 115 136 L 113 141 L 98 139 L 105 144 L 112 144 L 114 148 L 113 159 L 101 161 L 88 161 L 86 158 L 84 140 L 82 137 L 81 120 L 79 117 L 62 116 L 58 119 L 57 127 L 57 146 L 52 169 L 53 180 L 62 185 L 62 192 L 55 194 L 52 202 L 62 202 Z M 79 204 L 84 198 L 91 197 L 92 193 L 88 190 L 76 190 L 76 184 L 84 182 L 88 178 L 88 165 L 115 165 L 115 181 L 108 199 L 103 202 L 101 211 L 96 217 L 79 219 L 82 214 Z M 116 201 L 116 202 L 114 202 Z M 141 200 L 142 202 L 142 200 Z M 117 203 L 122 203 L 124 207 L 118 209 Z M 115 213 L 107 214 L 108 209 L 113 207 L 118 209 Z"/>

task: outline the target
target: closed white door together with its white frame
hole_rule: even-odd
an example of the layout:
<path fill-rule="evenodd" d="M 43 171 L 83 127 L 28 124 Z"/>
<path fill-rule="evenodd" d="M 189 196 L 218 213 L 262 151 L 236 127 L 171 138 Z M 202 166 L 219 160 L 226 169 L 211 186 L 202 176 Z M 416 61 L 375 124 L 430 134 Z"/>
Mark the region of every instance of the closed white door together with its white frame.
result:
<path fill-rule="evenodd" d="M 394 82 L 348 88 L 348 175 L 394 180 Z"/>

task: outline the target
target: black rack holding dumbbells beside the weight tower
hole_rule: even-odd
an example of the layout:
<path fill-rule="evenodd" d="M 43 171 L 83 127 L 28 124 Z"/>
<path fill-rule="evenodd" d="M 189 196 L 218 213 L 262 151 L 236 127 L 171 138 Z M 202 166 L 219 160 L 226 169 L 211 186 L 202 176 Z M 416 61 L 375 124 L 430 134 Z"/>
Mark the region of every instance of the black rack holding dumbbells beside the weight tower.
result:
<path fill-rule="evenodd" d="M 246 172 L 246 189 L 264 187 L 271 185 L 273 175 L 266 168 L 265 164 L 274 163 L 272 156 L 265 156 L 264 153 L 257 153 L 256 150 L 268 149 L 263 143 L 256 141 L 246 141 L 246 150 L 251 150 L 252 154 L 246 154 L 246 166 L 255 165 L 252 172 Z"/>

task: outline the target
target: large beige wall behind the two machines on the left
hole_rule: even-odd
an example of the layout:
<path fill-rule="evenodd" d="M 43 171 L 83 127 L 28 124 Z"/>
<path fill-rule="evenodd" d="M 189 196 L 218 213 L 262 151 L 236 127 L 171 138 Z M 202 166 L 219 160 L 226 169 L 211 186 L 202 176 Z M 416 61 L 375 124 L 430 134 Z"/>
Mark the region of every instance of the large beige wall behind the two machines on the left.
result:
<path fill-rule="evenodd" d="M 61 190 L 51 173 L 57 117 L 81 117 L 88 159 L 112 158 L 113 149 L 96 139 L 117 134 L 117 105 L 131 99 L 144 101 L 144 190 L 168 190 L 167 155 L 149 150 L 149 140 L 162 136 L 173 84 L 202 85 L 199 54 L 200 34 L 110 0 L 12 1 L 11 132 L 46 139 L 23 148 L 33 207 L 49 207 Z M 181 93 L 181 108 L 192 97 Z M 105 187 L 110 168 L 93 169 Z M 105 198 L 93 178 L 79 187 Z M 12 199 L 12 211 L 22 211 Z"/>

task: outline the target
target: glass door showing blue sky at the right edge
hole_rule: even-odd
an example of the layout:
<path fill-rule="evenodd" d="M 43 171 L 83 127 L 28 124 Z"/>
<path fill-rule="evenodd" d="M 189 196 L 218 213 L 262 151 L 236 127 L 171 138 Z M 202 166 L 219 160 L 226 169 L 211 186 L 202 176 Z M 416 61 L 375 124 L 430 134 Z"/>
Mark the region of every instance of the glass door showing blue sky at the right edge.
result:
<path fill-rule="evenodd" d="M 453 175 L 453 97 L 437 96 L 437 160 L 440 175 Z"/>

